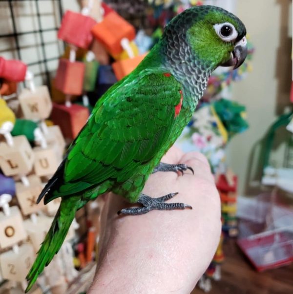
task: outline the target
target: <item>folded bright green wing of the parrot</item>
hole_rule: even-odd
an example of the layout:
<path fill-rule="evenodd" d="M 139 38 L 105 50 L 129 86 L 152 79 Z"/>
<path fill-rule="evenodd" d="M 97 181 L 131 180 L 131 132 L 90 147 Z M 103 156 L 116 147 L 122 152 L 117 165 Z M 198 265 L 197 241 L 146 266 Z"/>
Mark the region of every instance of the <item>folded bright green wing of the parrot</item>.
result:
<path fill-rule="evenodd" d="M 137 166 L 151 160 L 174 124 L 180 89 L 172 76 L 163 73 L 128 78 L 111 88 L 71 145 L 60 168 L 62 184 L 51 185 L 45 203 L 109 179 L 124 182 Z"/>

